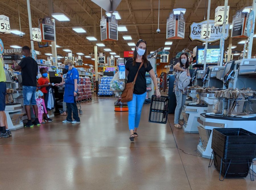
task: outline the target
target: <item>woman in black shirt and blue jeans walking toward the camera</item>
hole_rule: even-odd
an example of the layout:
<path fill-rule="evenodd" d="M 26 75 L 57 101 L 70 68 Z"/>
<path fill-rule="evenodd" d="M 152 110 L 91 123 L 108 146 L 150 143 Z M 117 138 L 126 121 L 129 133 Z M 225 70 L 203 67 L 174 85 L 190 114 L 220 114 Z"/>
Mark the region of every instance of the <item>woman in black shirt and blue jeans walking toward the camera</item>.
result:
<path fill-rule="evenodd" d="M 137 79 L 135 81 L 134 90 L 133 90 L 133 99 L 128 104 L 128 124 L 130 130 L 130 140 L 134 141 L 135 137 L 138 137 L 137 129 L 139 127 L 139 122 L 141 119 L 141 110 L 146 98 L 146 78 L 145 74 L 148 72 L 151 79 L 153 80 L 154 86 L 156 87 L 156 96 L 160 97 L 160 92 L 157 86 L 157 80 L 155 72 L 147 60 L 147 42 L 140 39 L 135 47 L 133 52 L 133 58 L 130 58 L 126 61 L 125 64 L 125 74 L 128 76 L 127 83 L 133 82 L 135 76 L 138 72 Z M 141 68 L 139 69 L 140 65 Z"/>

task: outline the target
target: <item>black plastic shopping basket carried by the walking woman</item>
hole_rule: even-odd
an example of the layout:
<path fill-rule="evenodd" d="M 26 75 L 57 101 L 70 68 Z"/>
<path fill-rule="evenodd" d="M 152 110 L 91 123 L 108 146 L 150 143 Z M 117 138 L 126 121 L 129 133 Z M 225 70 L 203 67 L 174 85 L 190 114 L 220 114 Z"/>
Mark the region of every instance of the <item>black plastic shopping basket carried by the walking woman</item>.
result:
<path fill-rule="evenodd" d="M 152 123 L 167 123 L 169 97 L 152 95 L 148 121 Z"/>

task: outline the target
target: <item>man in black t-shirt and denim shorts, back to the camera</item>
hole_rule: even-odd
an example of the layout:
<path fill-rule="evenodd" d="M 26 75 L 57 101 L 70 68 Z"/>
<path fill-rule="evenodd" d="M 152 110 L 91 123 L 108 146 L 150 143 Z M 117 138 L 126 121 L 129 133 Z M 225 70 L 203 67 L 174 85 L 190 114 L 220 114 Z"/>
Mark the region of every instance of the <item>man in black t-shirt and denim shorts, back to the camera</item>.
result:
<path fill-rule="evenodd" d="M 30 57 L 30 48 L 28 46 L 22 47 L 22 55 L 23 59 L 15 66 L 15 70 L 21 69 L 23 105 L 25 106 L 26 114 L 28 116 L 28 122 L 25 127 L 34 127 L 34 125 L 40 126 L 41 124 L 38 121 L 38 107 L 36 105 L 37 62 Z M 30 104 L 33 106 L 36 117 L 33 123 L 31 121 Z"/>

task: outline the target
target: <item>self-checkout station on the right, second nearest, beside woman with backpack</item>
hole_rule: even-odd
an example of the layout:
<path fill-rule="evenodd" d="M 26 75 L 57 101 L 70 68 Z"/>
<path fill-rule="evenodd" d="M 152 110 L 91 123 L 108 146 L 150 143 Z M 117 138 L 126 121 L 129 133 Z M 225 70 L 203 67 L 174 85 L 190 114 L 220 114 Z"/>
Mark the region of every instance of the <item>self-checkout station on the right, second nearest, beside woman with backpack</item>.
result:
<path fill-rule="evenodd" d="M 223 71 L 224 66 L 207 67 L 204 71 L 197 73 L 197 83 L 199 83 L 199 79 L 201 78 L 204 87 L 214 86 L 216 89 L 222 89 L 223 82 L 216 78 L 216 76 L 217 74 L 222 75 Z M 203 74 L 201 74 L 202 72 Z M 214 97 L 214 92 L 197 93 L 197 89 L 190 89 L 188 90 L 188 95 L 193 99 L 197 99 L 197 101 L 184 105 L 187 121 L 183 125 L 183 131 L 185 133 L 199 133 L 197 119 L 200 117 L 200 114 L 208 111 L 208 107 L 210 110 L 213 107 L 211 102 L 205 102 L 204 99 L 208 100 L 208 97 Z"/>

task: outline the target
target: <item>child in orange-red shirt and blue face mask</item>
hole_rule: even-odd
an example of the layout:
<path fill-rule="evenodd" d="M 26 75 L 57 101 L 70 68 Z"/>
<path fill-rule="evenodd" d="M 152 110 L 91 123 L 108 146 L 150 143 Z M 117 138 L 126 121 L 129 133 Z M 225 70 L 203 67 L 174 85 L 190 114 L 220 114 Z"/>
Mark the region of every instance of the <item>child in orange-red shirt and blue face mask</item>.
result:
<path fill-rule="evenodd" d="M 40 68 L 40 73 L 42 75 L 42 77 L 40 77 L 38 79 L 38 85 L 40 86 L 40 90 L 42 91 L 42 93 L 44 93 L 44 99 L 46 97 L 46 94 L 48 93 L 46 87 L 50 86 L 51 83 L 48 80 L 48 74 L 47 74 L 47 70 L 45 68 Z M 53 120 L 50 118 L 47 118 L 47 113 L 44 113 L 44 120 L 47 122 L 52 122 Z M 42 122 L 43 123 L 43 122 Z"/>

